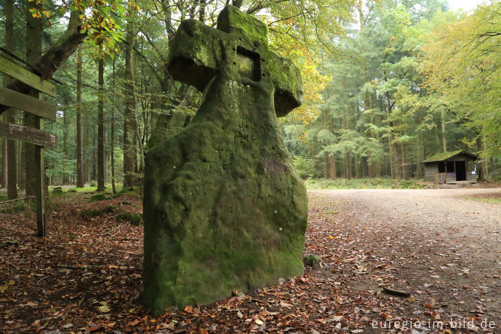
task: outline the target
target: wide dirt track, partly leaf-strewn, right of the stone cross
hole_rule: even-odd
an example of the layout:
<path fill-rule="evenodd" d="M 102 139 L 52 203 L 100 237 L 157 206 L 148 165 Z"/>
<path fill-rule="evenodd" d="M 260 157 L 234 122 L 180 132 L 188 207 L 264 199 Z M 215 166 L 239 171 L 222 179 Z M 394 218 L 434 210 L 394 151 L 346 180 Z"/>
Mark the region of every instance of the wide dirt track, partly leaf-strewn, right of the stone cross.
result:
<path fill-rule="evenodd" d="M 371 319 L 427 316 L 449 322 L 475 317 L 479 324 L 487 318 L 499 332 L 501 205 L 466 199 L 499 192 L 311 191 L 307 252 L 327 257 L 327 267 L 348 279 L 355 290 L 380 291 L 387 286 L 411 293 L 405 299 L 380 294 L 389 313 Z M 325 236 L 333 236 L 332 242 L 327 240 L 327 249 L 319 249 L 315 243 Z M 399 300 L 394 308 L 392 298 Z"/>

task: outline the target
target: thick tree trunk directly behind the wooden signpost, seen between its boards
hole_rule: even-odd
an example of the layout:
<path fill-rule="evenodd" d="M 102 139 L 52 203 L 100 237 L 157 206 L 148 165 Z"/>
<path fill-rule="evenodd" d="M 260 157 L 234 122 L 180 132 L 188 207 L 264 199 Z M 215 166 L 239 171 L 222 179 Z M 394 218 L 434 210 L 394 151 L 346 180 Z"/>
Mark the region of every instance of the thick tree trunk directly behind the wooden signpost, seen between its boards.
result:
<path fill-rule="evenodd" d="M 36 8 L 42 12 L 42 4 L 37 2 L 26 2 L 26 61 L 29 64 L 36 64 L 42 57 L 42 20 L 34 18 L 30 13 L 30 8 Z M 30 95 L 40 98 L 40 92 L 34 89 L 30 90 Z M 40 117 L 31 113 L 25 113 L 25 125 L 30 127 L 40 127 Z M 36 195 L 36 174 L 37 166 L 35 161 L 35 145 L 25 143 L 26 159 L 26 196 Z M 45 178 L 43 178 L 45 179 Z"/>

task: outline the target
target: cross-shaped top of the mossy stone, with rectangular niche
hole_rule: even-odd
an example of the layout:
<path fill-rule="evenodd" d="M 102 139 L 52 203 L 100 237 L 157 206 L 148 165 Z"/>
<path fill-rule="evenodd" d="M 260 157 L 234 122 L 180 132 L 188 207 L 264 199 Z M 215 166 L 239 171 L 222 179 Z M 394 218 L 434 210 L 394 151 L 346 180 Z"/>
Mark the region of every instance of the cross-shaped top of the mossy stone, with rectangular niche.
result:
<path fill-rule="evenodd" d="M 299 68 L 268 48 L 268 26 L 236 7 L 226 6 L 217 29 L 186 20 L 177 31 L 170 51 L 172 78 L 203 91 L 210 80 L 225 71 L 233 80 L 252 80 L 274 90 L 277 117 L 287 115 L 303 101 Z"/>

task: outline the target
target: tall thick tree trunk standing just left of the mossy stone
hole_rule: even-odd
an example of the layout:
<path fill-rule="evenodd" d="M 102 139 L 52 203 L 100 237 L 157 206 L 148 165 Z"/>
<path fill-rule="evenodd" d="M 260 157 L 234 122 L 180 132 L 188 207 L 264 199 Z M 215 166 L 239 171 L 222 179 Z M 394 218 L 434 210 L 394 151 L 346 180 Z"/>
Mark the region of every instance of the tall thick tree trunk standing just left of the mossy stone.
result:
<path fill-rule="evenodd" d="M 130 7 L 129 7 L 130 8 Z M 136 110 L 135 83 L 133 70 L 133 46 L 134 46 L 134 19 L 129 10 L 129 22 L 125 37 L 125 110 L 124 110 L 124 129 L 123 129 L 123 171 L 124 188 L 134 186 L 134 138 L 137 125 L 134 124 L 134 112 Z"/>

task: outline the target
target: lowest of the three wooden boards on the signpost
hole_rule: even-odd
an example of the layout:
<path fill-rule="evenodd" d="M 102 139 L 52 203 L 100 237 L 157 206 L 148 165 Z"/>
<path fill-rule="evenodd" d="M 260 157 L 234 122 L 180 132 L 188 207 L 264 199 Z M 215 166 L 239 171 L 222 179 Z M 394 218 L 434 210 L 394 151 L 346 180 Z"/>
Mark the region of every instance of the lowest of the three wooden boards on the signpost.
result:
<path fill-rule="evenodd" d="M 57 144 L 57 137 L 52 133 L 6 122 L 0 122 L 0 138 L 21 140 L 48 148 L 56 148 Z"/>

